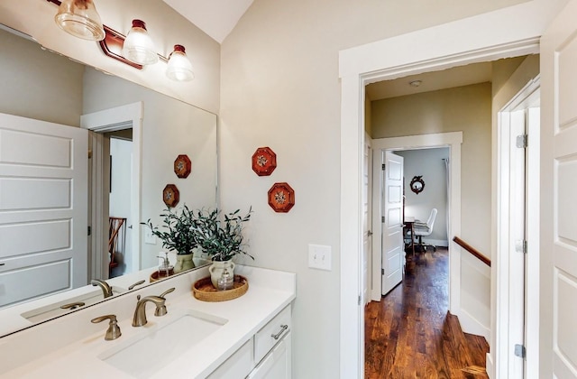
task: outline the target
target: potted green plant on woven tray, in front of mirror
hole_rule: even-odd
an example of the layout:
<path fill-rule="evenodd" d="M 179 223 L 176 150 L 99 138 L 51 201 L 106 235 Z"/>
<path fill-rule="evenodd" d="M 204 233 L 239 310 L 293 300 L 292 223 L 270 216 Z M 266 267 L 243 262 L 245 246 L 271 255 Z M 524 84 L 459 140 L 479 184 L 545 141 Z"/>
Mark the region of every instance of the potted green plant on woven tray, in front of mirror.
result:
<path fill-rule="evenodd" d="M 234 277 L 234 256 L 243 254 L 254 259 L 245 251 L 247 244 L 243 236 L 243 224 L 251 219 L 251 213 L 252 207 L 244 216 L 240 209 L 222 215 L 221 210 L 215 208 L 200 209 L 195 215 L 196 223 L 192 226 L 195 241 L 213 261 L 208 270 L 215 287 L 224 269 Z"/>

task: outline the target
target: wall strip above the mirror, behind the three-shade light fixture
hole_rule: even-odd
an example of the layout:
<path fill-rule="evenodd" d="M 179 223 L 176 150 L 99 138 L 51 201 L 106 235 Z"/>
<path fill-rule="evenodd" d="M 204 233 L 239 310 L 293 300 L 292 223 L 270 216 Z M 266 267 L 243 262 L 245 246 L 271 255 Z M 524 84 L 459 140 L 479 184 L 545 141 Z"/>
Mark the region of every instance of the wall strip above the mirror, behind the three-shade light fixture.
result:
<path fill-rule="evenodd" d="M 57 10 L 56 5 L 47 1 L 0 2 L 0 23 L 32 35 L 52 51 L 59 51 L 70 58 L 112 72 L 144 87 L 154 88 L 188 104 L 211 112 L 218 111 L 220 45 L 177 14 L 169 5 L 160 0 L 98 0 L 96 10 L 105 25 L 124 35 L 130 30 L 134 18 L 143 20 L 157 51 L 165 57 L 169 56 L 175 44 L 184 45 L 196 74 L 196 78 L 190 82 L 168 79 L 165 76 L 164 62 L 139 70 L 106 57 L 97 43 L 84 41 L 61 31 L 54 23 Z"/>

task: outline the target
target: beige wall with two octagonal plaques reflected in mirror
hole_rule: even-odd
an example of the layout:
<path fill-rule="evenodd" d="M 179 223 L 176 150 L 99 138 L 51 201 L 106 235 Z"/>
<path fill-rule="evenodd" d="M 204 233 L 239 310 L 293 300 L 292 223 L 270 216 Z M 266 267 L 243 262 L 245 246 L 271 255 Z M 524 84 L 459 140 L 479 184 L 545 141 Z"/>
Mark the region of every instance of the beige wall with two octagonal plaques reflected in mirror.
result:
<path fill-rule="evenodd" d="M 123 79 L 87 69 L 84 113 L 114 106 L 143 102 L 142 117 L 142 220 L 151 218 L 160 225 L 160 212 L 166 208 L 162 189 L 176 184 L 180 193 L 177 207 L 215 207 L 216 201 L 216 116 L 195 106 L 151 91 Z M 188 178 L 178 178 L 174 161 L 187 154 L 192 162 Z M 138 221 L 136 221 L 138 222 Z M 144 226 L 142 226 L 144 227 Z M 142 267 L 158 264 L 160 241 L 144 243 Z"/>

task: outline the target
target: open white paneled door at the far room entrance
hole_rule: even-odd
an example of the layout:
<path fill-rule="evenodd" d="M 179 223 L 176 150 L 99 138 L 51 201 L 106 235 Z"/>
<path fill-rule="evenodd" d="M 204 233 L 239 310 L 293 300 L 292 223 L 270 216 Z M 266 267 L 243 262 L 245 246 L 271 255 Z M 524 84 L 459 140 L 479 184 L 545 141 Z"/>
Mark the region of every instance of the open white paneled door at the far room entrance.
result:
<path fill-rule="evenodd" d="M 403 157 L 383 153 L 382 294 L 403 280 Z"/>

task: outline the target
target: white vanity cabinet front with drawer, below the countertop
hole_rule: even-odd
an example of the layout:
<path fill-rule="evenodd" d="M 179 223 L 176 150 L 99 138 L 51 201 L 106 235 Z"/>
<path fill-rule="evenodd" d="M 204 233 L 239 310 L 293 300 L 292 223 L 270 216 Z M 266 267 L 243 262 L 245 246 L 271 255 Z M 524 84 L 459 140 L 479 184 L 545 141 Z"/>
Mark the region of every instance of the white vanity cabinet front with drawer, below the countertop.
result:
<path fill-rule="evenodd" d="M 289 379 L 291 328 L 292 319 L 288 305 L 207 378 Z"/>

